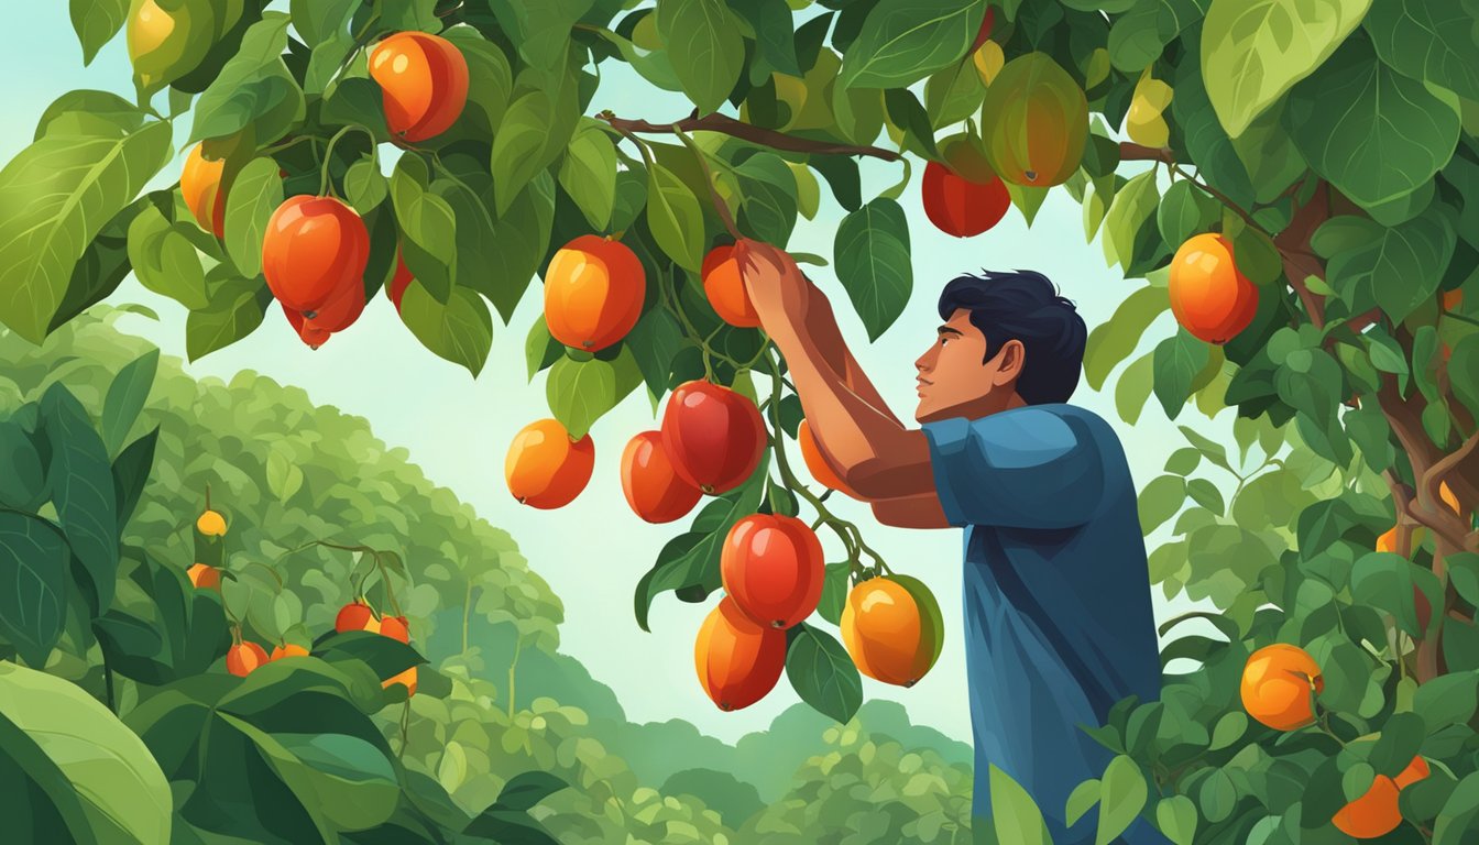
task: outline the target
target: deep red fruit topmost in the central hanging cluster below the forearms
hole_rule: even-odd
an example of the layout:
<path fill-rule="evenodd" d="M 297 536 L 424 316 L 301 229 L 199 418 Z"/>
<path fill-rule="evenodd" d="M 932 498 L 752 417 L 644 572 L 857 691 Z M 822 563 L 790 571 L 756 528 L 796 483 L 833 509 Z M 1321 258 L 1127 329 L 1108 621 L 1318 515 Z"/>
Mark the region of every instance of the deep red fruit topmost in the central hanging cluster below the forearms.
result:
<path fill-rule="evenodd" d="M 663 411 L 663 448 L 679 478 L 710 496 L 744 484 L 765 453 L 760 408 L 710 382 L 679 385 Z"/>

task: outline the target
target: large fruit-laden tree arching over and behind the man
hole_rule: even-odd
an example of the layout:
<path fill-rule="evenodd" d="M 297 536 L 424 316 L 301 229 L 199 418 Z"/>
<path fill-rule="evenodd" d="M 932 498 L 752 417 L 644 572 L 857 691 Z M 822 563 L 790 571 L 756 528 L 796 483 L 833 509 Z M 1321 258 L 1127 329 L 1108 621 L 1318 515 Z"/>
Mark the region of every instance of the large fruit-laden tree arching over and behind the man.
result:
<path fill-rule="evenodd" d="M 1089 728 L 1117 756 L 1069 801 L 1069 821 L 1093 818 L 1081 823 L 1100 842 L 1139 815 L 1176 842 L 1460 842 L 1479 829 L 1479 40 L 1467 0 L 330 0 L 287 12 L 75 0 L 71 12 L 84 59 L 126 31 L 138 98 L 64 95 L 0 172 L 0 321 L 40 343 L 132 271 L 188 309 L 198 358 L 256 330 L 274 299 L 318 346 L 386 287 L 427 349 L 476 376 L 494 312 L 507 323 L 540 277 L 527 364 L 531 377 L 549 371 L 541 431 L 572 445 L 535 450 L 531 435 L 534 451 L 510 450 L 521 499 L 578 494 L 589 468 L 565 462 L 589 460 L 592 428 L 632 392 L 682 397 L 646 435 L 667 465 L 627 450 L 639 515 L 673 521 L 703 502 L 639 582 L 639 625 L 661 593 L 716 592 L 731 530 L 757 512 L 805 509 L 802 527 L 845 551 L 819 596 L 797 590 L 802 605 L 778 619 L 815 610 L 845 641 L 870 642 L 867 616 L 845 613 L 849 588 L 913 599 L 913 654 L 874 666 L 819 625 L 781 638 L 726 598 L 698 666 L 716 666 L 716 642 L 748 656 L 725 667 L 734 676 L 703 678 L 734 701 L 763 696 L 779 657 L 803 700 L 846 721 L 859 663 L 917 679 L 941 632 L 923 585 L 893 576 L 790 463 L 800 404 L 719 250 L 741 237 L 784 247 L 825 182 L 846 212 L 831 260 L 877 339 L 913 287 L 896 200 L 918 164 L 929 219 L 952 235 L 989 229 L 1003 192 L 1028 222 L 1047 191 L 1066 192 L 1106 260 L 1146 280 L 1090 336 L 1089 383 L 1114 376 L 1127 422 L 1152 394 L 1173 419 L 1188 404 L 1235 408 L 1238 445 L 1232 456 L 1183 426 L 1188 447 L 1142 493 L 1148 531 L 1174 518 L 1154 580 L 1216 605 L 1195 619 L 1220 638 L 1170 644 L 1165 660 L 1195 669 L 1167 675 L 1160 701 L 1124 701 Z M 612 112 L 606 62 L 692 111 Z M 141 195 L 183 120 L 198 157 L 179 185 Z M 898 184 L 864 197 L 861 158 L 896 163 Z M 1121 368 L 1165 311 L 1176 333 Z M 1275 644 L 1318 673 L 1259 651 Z M 1297 719 L 1288 688 L 1265 690 L 1290 678 L 1310 697 Z M 1429 774 L 1414 780 L 1417 761 Z M 1013 787 L 1003 778 L 995 804 L 1021 823 L 1035 808 Z M 997 830 L 1003 833 L 1007 815 Z"/>

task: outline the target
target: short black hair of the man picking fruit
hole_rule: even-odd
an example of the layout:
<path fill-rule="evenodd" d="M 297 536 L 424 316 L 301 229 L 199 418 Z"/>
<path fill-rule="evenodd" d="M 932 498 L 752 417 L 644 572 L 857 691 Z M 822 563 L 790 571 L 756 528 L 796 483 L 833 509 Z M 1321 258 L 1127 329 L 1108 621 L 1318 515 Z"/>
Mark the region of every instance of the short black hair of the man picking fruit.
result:
<path fill-rule="evenodd" d="M 939 317 L 970 311 L 970 324 L 986 337 L 989 361 L 1007 340 L 1026 349 L 1016 392 L 1029 405 L 1065 403 L 1078 386 L 1089 330 L 1074 303 L 1040 272 L 981 271 L 950 281 L 939 294 Z"/>

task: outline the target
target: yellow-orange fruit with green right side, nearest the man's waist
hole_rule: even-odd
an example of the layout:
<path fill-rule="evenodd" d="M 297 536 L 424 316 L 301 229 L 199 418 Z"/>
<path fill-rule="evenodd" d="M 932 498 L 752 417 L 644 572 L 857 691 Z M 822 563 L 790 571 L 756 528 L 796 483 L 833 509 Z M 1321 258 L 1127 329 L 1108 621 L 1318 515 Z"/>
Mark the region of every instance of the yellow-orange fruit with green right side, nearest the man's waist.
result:
<path fill-rule="evenodd" d="M 939 604 L 908 576 L 881 576 L 852 588 L 840 627 L 858 670 L 895 687 L 917 684 L 944 642 Z"/>

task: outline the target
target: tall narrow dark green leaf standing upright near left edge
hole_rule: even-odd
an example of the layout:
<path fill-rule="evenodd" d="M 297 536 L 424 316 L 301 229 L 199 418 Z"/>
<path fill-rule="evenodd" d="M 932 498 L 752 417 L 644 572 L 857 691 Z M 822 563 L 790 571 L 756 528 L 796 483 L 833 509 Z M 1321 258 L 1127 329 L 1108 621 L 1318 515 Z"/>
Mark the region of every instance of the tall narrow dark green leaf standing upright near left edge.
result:
<path fill-rule="evenodd" d="M 112 604 L 118 580 L 118 500 L 112 487 L 108 447 L 93 429 L 87 410 L 61 382 L 41 397 L 41 417 L 52 445 L 52 502 L 71 553 L 81 562 L 92 614 Z"/>

